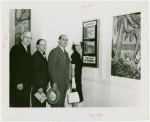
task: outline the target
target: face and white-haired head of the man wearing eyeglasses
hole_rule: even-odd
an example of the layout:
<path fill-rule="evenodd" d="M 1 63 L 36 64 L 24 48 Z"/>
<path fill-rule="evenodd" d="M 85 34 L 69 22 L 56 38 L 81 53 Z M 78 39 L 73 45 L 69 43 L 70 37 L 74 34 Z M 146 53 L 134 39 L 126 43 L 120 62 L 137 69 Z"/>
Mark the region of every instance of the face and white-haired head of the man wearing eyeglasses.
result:
<path fill-rule="evenodd" d="M 22 43 L 26 46 L 30 45 L 31 40 L 32 40 L 32 34 L 31 32 L 26 32 L 24 35 L 21 37 Z"/>

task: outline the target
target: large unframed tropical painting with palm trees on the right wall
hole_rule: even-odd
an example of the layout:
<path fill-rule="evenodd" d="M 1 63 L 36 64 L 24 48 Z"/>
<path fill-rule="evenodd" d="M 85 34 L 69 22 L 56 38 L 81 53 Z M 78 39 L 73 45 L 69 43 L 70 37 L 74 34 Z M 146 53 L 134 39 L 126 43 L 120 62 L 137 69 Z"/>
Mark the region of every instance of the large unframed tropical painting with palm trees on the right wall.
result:
<path fill-rule="evenodd" d="M 141 13 L 113 17 L 111 75 L 141 79 Z"/>

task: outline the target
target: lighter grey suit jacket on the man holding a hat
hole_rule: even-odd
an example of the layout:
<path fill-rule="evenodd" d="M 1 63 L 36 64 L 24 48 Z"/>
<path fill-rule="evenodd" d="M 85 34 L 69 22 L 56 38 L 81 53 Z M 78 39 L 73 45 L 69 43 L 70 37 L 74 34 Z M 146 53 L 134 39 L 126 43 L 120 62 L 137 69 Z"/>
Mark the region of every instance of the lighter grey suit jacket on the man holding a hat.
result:
<path fill-rule="evenodd" d="M 70 59 L 68 53 L 57 46 L 54 48 L 48 58 L 48 70 L 51 86 L 54 83 L 57 85 L 69 85 L 69 64 Z"/>

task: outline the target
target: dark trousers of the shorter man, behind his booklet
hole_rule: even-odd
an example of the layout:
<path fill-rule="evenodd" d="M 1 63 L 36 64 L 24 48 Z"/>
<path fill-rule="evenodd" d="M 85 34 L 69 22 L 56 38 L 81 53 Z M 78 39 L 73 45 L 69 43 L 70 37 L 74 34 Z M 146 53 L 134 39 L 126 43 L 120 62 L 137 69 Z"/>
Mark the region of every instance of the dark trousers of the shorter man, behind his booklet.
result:
<path fill-rule="evenodd" d="M 34 96 L 34 94 L 37 92 L 37 90 L 36 91 L 32 91 L 32 107 L 46 107 L 46 100 L 43 102 L 43 103 L 41 103 L 35 96 Z M 44 94 L 46 95 L 46 92 L 44 92 Z"/>

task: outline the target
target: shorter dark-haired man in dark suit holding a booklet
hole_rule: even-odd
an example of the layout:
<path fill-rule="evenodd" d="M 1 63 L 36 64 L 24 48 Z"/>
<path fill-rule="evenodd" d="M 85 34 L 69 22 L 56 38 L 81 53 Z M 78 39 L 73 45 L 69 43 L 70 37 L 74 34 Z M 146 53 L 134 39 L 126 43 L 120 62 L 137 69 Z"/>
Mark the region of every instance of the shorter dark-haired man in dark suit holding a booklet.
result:
<path fill-rule="evenodd" d="M 33 90 L 32 90 L 32 107 L 46 107 L 46 101 L 41 103 L 34 94 L 46 94 L 49 83 L 48 62 L 45 56 L 47 42 L 39 39 L 36 43 L 37 51 L 32 56 L 33 64 Z"/>

